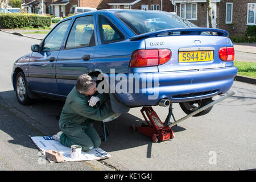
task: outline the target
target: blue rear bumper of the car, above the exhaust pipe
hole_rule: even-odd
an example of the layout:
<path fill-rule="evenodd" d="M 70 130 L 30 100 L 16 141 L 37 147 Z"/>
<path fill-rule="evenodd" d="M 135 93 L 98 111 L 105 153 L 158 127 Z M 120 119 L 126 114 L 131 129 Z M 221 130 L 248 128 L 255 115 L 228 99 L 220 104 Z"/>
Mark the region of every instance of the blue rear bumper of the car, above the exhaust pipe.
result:
<path fill-rule="evenodd" d="M 236 75 L 236 67 L 127 74 L 127 89 L 123 89 L 125 84 L 115 80 L 115 94 L 128 106 L 158 105 L 163 98 L 171 102 L 200 100 L 227 92 Z"/>

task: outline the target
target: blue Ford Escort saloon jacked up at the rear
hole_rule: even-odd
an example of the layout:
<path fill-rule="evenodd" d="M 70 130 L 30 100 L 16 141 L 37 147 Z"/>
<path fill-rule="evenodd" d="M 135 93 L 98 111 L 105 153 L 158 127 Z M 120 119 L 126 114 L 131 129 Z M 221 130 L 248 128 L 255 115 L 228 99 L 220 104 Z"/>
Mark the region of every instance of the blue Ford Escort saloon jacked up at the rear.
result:
<path fill-rule="evenodd" d="M 176 102 L 189 114 L 233 84 L 237 68 L 228 35 L 164 11 L 74 15 L 15 61 L 13 86 L 23 105 L 39 96 L 65 99 L 87 73 L 97 78 L 99 93 L 109 92 L 118 113 Z"/>

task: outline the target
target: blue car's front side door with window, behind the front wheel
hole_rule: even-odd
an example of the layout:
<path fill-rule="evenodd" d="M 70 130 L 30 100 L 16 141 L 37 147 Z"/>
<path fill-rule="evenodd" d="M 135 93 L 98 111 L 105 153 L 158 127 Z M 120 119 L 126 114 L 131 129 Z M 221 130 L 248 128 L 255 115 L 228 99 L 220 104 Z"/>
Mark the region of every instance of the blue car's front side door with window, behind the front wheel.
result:
<path fill-rule="evenodd" d="M 41 51 L 32 53 L 27 77 L 31 91 L 59 94 L 56 60 L 70 22 L 71 19 L 58 24 L 43 40 Z"/>

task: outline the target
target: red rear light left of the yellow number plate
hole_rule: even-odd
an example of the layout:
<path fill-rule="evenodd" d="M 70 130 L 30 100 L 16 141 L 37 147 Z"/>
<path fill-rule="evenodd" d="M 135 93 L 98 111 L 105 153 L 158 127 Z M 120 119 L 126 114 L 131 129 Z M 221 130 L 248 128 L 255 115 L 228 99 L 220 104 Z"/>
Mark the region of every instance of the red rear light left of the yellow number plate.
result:
<path fill-rule="evenodd" d="M 164 64 L 170 59 L 169 49 L 139 49 L 131 55 L 129 67 L 152 67 Z"/>

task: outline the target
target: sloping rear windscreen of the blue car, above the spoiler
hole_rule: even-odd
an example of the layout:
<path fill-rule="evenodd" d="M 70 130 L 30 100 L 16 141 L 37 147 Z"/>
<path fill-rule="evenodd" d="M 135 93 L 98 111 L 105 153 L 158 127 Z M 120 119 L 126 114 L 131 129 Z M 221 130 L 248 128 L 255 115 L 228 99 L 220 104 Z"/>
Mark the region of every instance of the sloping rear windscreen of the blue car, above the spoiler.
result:
<path fill-rule="evenodd" d="M 180 16 L 164 11 L 118 11 L 114 15 L 137 35 L 168 28 L 197 27 Z"/>

